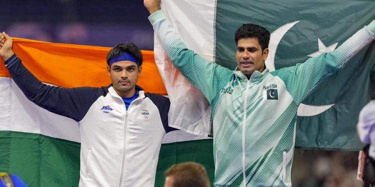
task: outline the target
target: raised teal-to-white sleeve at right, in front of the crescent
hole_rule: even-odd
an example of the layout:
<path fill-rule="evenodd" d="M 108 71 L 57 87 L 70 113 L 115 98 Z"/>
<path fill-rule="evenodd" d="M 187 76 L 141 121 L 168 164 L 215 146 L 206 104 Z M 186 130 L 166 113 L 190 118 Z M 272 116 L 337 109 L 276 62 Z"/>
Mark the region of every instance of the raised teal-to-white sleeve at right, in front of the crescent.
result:
<path fill-rule="evenodd" d="M 309 58 L 302 64 L 281 68 L 271 73 L 285 82 L 286 89 L 294 101 L 299 104 L 319 83 L 333 75 L 358 51 L 370 43 L 374 39 L 374 35 L 375 20 L 358 30 L 336 50 Z"/>

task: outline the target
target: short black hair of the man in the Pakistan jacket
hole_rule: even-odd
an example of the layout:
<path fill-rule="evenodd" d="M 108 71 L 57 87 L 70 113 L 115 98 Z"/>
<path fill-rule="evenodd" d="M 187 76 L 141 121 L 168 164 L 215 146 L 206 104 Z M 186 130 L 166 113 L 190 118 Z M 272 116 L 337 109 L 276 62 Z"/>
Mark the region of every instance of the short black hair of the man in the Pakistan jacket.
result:
<path fill-rule="evenodd" d="M 257 38 L 261 47 L 261 50 L 268 48 L 269 44 L 269 31 L 257 24 L 242 24 L 242 26 L 238 27 L 234 33 L 234 40 L 235 44 L 238 44 L 238 40 L 242 38 Z"/>

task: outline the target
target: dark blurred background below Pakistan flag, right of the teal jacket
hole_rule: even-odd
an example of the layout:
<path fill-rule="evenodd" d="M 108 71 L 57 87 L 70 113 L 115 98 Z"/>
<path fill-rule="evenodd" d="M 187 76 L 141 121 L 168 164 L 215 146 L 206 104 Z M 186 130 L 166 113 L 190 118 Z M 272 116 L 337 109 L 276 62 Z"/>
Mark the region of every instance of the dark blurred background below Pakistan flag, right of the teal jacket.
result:
<path fill-rule="evenodd" d="M 292 187 L 362 187 L 358 152 L 295 149 Z"/>

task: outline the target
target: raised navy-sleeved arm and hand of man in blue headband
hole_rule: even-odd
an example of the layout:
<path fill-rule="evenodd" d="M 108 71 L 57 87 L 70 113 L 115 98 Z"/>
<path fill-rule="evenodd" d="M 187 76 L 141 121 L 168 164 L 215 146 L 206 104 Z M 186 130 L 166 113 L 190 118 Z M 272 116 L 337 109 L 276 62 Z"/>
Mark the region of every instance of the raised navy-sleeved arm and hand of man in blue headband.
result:
<path fill-rule="evenodd" d="M 28 100 L 50 112 L 80 121 L 91 104 L 100 95 L 98 88 L 60 88 L 40 82 L 21 63 L 11 50 L 12 40 L 0 33 L 0 57 L 4 58 L 5 66 L 15 84 L 21 89 Z M 3 39 L 6 40 L 3 40 Z"/>

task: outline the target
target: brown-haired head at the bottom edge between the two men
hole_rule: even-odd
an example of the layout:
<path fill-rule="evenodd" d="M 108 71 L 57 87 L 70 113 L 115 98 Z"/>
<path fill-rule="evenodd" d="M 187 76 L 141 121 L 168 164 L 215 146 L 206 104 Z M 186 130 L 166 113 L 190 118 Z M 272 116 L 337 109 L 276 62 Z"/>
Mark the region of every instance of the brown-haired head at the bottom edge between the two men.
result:
<path fill-rule="evenodd" d="M 179 163 L 165 171 L 166 177 L 172 177 L 174 187 L 210 187 L 205 168 L 194 162 Z"/>

